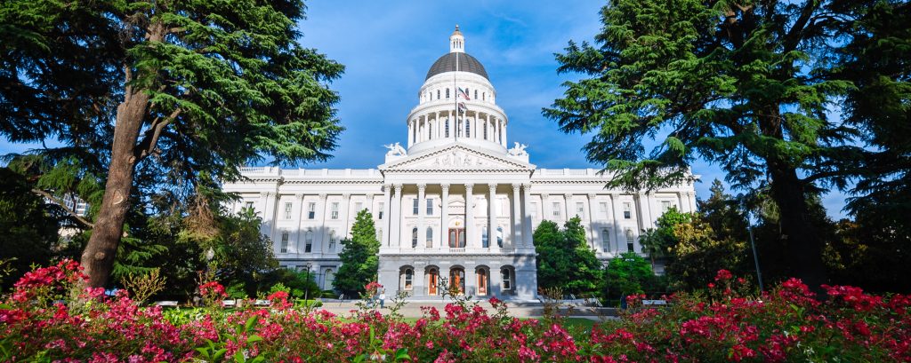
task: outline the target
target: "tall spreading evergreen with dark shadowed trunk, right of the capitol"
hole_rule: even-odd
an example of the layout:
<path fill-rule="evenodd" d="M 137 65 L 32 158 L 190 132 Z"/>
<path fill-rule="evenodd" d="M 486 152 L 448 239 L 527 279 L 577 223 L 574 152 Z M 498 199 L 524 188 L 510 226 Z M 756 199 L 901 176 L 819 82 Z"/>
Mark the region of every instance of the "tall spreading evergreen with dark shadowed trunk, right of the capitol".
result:
<path fill-rule="evenodd" d="M 865 3 L 869 3 L 865 2 Z M 768 185 L 791 271 L 825 280 L 822 233 L 807 197 L 844 187 L 863 153 L 827 106 L 852 84 L 825 77 L 838 36 L 857 18 L 840 0 L 611 0 L 597 45 L 570 42 L 565 84 L 545 115 L 565 132 L 594 133 L 589 160 L 630 188 L 678 182 L 697 156 L 734 187 Z M 643 139 L 663 137 L 646 152 Z"/>

